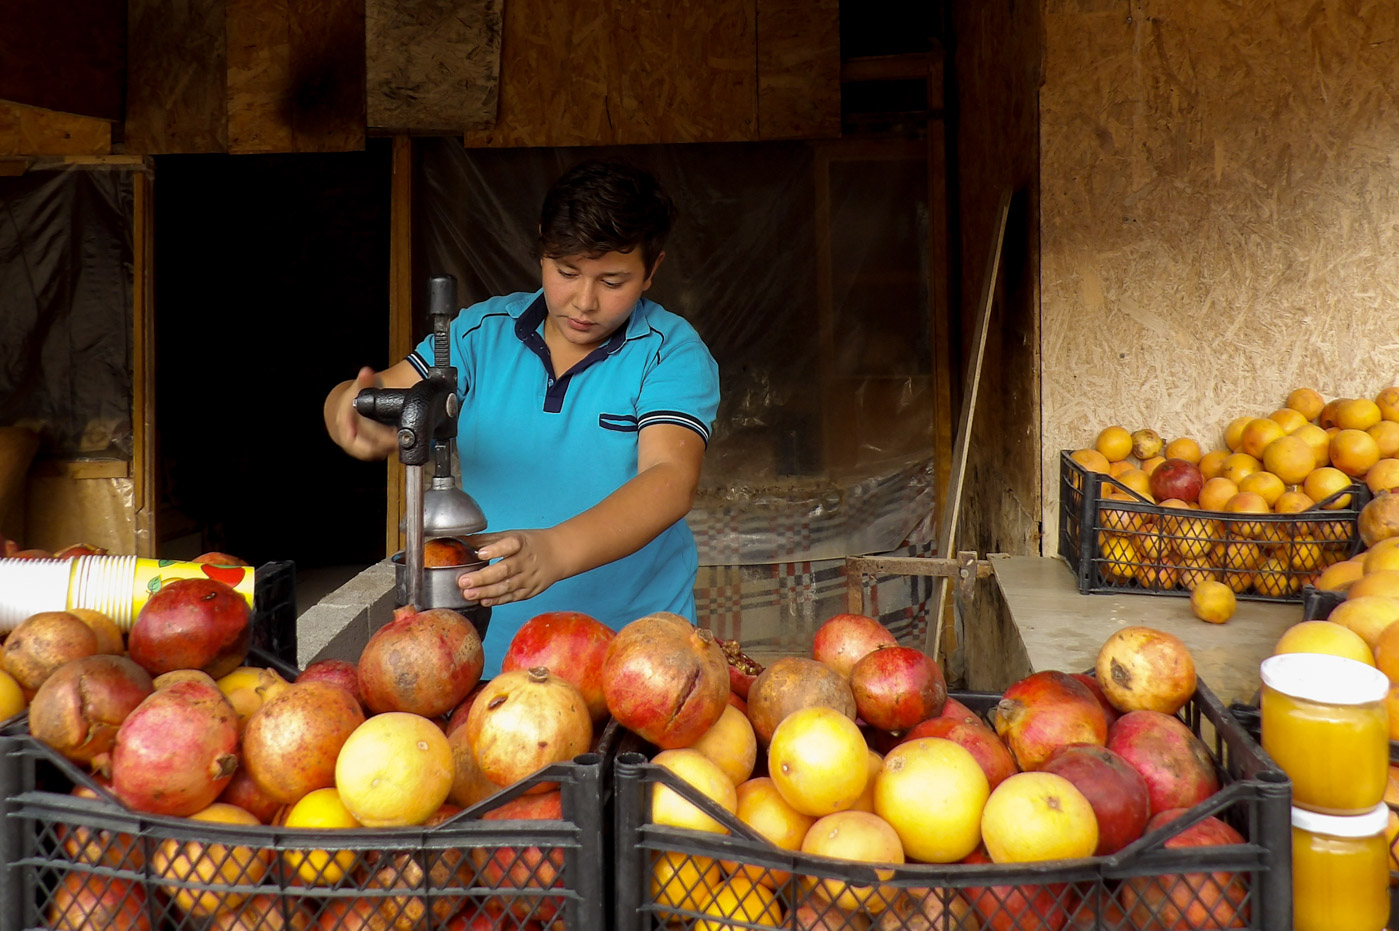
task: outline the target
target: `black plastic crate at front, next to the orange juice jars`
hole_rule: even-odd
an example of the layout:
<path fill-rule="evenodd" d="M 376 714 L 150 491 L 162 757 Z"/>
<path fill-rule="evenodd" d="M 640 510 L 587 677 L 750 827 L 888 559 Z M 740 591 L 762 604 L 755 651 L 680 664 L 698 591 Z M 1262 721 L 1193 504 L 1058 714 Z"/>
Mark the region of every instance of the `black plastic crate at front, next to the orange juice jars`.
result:
<path fill-rule="evenodd" d="M 1000 696 L 953 693 L 953 697 L 978 714 L 985 714 Z M 1245 923 L 1226 923 L 1220 927 L 1258 931 L 1290 928 L 1291 784 L 1205 683 L 1199 683 L 1195 697 L 1182 710 L 1182 718 L 1196 735 L 1202 734 L 1202 722 L 1210 724 L 1203 739 L 1212 743 L 1220 771 L 1221 788 L 1217 794 L 1192 808 L 1188 815 L 1109 857 L 1035 864 L 867 865 L 783 851 L 669 770 L 649 763 L 651 748 L 624 743 L 617 756 L 614 784 L 617 861 L 611 927 L 618 931 L 795 928 L 797 907 L 813 906 L 818 913 L 830 907 L 799 882 L 799 878 L 810 878 L 876 886 L 873 896 L 886 903 L 898 896 L 912 896 L 912 900 L 905 902 L 926 904 L 936 900 L 947 909 L 932 925 L 894 925 L 900 928 L 1119 928 L 1132 927 L 1121 923 L 1118 911 L 1119 892 L 1129 882 L 1163 896 L 1172 890 L 1184 893 L 1186 899 L 1193 895 L 1193 903 L 1198 904 L 1205 895 L 1192 893 L 1191 886 L 1178 879 L 1179 875 L 1205 874 L 1203 889 L 1223 892 L 1223 886 L 1209 874 L 1233 874 L 1228 892 L 1240 896 L 1237 906 L 1247 917 Z M 677 791 L 720 820 L 730 833 L 712 834 L 651 823 L 649 799 L 653 784 L 665 784 Z M 1164 847 L 1167 840 L 1185 827 L 1212 815 L 1235 827 L 1247 841 L 1178 850 Z M 753 867 L 761 876 L 772 876 L 774 871 L 789 874 L 774 883 L 782 920 L 754 924 L 737 918 L 715 918 L 694 907 L 658 902 L 652 890 L 652 864 L 662 854 L 670 855 L 672 869 L 687 876 L 704 876 L 708 860 Z M 881 872 L 877 874 L 877 869 Z M 1017 886 L 1037 890 L 1031 906 L 1025 904 L 1024 897 L 1016 897 L 1013 888 Z M 704 890 L 697 883 L 694 892 L 702 895 Z M 979 903 L 985 914 L 974 917 L 957 911 L 971 899 Z M 961 906 L 956 904 L 958 902 Z M 860 927 L 863 925 L 842 917 L 831 925 L 831 931 L 858 931 Z"/>

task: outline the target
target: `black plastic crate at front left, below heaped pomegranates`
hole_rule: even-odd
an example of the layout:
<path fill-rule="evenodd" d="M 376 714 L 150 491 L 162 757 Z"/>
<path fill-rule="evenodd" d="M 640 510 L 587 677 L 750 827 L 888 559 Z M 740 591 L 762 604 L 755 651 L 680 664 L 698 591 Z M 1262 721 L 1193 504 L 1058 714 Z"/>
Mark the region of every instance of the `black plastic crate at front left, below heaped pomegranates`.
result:
<path fill-rule="evenodd" d="M 424 825 L 318 830 L 132 811 L 21 715 L 0 728 L 0 931 L 602 931 L 616 732 Z"/>

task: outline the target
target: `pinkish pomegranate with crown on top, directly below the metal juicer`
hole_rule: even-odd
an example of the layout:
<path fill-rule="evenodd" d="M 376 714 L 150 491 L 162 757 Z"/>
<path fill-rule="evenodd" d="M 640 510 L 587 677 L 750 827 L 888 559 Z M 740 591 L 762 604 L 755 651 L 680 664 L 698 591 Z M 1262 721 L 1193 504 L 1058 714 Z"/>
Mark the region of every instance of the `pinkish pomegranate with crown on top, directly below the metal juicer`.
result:
<path fill-rule="evenodd" d="M 360 694 L 369 711 L 446 714 L 485 668 L 476 626 L 455 610 L 420 612 L 411 605 L 374 631 L 360 654 Z"/>

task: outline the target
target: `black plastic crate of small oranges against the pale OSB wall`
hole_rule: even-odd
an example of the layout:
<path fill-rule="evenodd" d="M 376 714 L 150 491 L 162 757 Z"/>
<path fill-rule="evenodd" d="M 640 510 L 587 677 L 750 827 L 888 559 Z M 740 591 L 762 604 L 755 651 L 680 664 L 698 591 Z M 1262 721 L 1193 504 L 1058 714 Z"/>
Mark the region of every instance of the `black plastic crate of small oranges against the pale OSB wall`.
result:
<path fill-rule="evenodd" d="M 1109 489 L 1118 497 L 1108 497 Z M 1346 507 L 1325 507 L 1347 494 Z M 1300 602 L 1326 566 L 1363 549 L 1356 518 L 1370 497 L 1358 482 L 1301 514 L 1164 508 L 1062 451 L 1059 554 L 1084 595 L 1189 598 L 1193 587 L 1185 577 L 1198 573 L 1226 582 L 1241 599 Z"/>

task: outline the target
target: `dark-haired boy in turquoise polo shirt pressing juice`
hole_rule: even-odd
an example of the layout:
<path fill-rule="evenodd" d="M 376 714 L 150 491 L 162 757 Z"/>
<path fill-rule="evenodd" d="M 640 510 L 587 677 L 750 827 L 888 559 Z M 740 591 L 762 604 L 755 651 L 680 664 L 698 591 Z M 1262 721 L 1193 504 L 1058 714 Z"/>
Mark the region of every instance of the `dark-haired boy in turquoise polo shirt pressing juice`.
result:
<path fill-rule="evenodd" d="M 490 566 L 457 580 L 491 608 L 485 675 L 546 610 L 614 630 L 656 610 L 695 620 L 698 553 L 684 515 L 719 372 L 694 328 L 644 297 L 673 217 L 648 172 L 583 162 L 544 199 L 541 290 L 490 298 L 452 322 L 462 483 L 492 526 L 513 528 L 471 538 Z M 395 454 L 395 428 L 355 413 L 354 396 L 407 388 L 431 358 L 428 336 L 388 370 L 336 385 L 330 437 L 361 459 Z"/>

